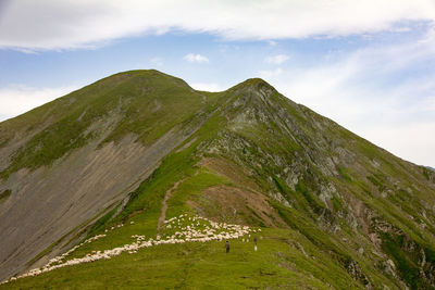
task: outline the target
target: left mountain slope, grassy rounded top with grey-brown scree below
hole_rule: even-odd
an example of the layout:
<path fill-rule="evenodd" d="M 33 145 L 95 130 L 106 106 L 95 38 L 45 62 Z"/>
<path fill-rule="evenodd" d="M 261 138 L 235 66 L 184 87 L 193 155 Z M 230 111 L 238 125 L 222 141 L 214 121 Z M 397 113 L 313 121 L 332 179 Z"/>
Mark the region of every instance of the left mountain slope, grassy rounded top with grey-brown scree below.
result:
<path fill-rule="evenodd" d="M 12 194 L 0 204 L 0 278 L 136 188 L 208 101 L 181 79 L 128 72 L 1 123 L 0 192 Z"/>

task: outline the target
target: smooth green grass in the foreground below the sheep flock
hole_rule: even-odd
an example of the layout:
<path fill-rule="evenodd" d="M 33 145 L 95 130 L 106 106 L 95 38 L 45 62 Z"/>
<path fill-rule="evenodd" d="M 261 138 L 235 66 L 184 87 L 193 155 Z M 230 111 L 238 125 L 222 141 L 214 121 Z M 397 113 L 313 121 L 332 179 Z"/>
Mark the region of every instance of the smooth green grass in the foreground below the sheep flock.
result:
<path fill-rule="evenodd" d="M 328 257 L 295 231 L 268 229 L 253 243 L 165 244 L 64 267 L 0 289 L 362 289 Z M 295 245 L 303 247 L 308 256 Z M 316 259 L 311 257 L 311 255 Z"/>

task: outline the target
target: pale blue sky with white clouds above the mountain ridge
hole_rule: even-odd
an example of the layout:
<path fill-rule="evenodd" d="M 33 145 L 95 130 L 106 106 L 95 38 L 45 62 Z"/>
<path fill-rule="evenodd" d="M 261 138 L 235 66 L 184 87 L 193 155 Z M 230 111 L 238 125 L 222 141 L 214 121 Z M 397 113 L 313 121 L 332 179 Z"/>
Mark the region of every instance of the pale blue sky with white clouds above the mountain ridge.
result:
<path fill-rule="evenodd" d="M 149 68 L 210 91 L 261 77 L 435 167 L 435 0 L 0 0 L 0 121 Z"/>

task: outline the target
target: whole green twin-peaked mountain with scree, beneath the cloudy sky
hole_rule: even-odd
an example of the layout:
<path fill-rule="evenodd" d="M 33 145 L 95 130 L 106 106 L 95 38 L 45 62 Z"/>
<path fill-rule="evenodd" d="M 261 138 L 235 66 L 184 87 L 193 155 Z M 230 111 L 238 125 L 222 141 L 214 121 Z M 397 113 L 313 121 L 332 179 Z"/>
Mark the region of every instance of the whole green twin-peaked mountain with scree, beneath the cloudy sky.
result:
<path fill-rule="evenodd" d="M 435 289 L 435 172 L 259 78 L 112 75 L 0 123 L 0 280 L 47 272 L 0 289 Z"/>

